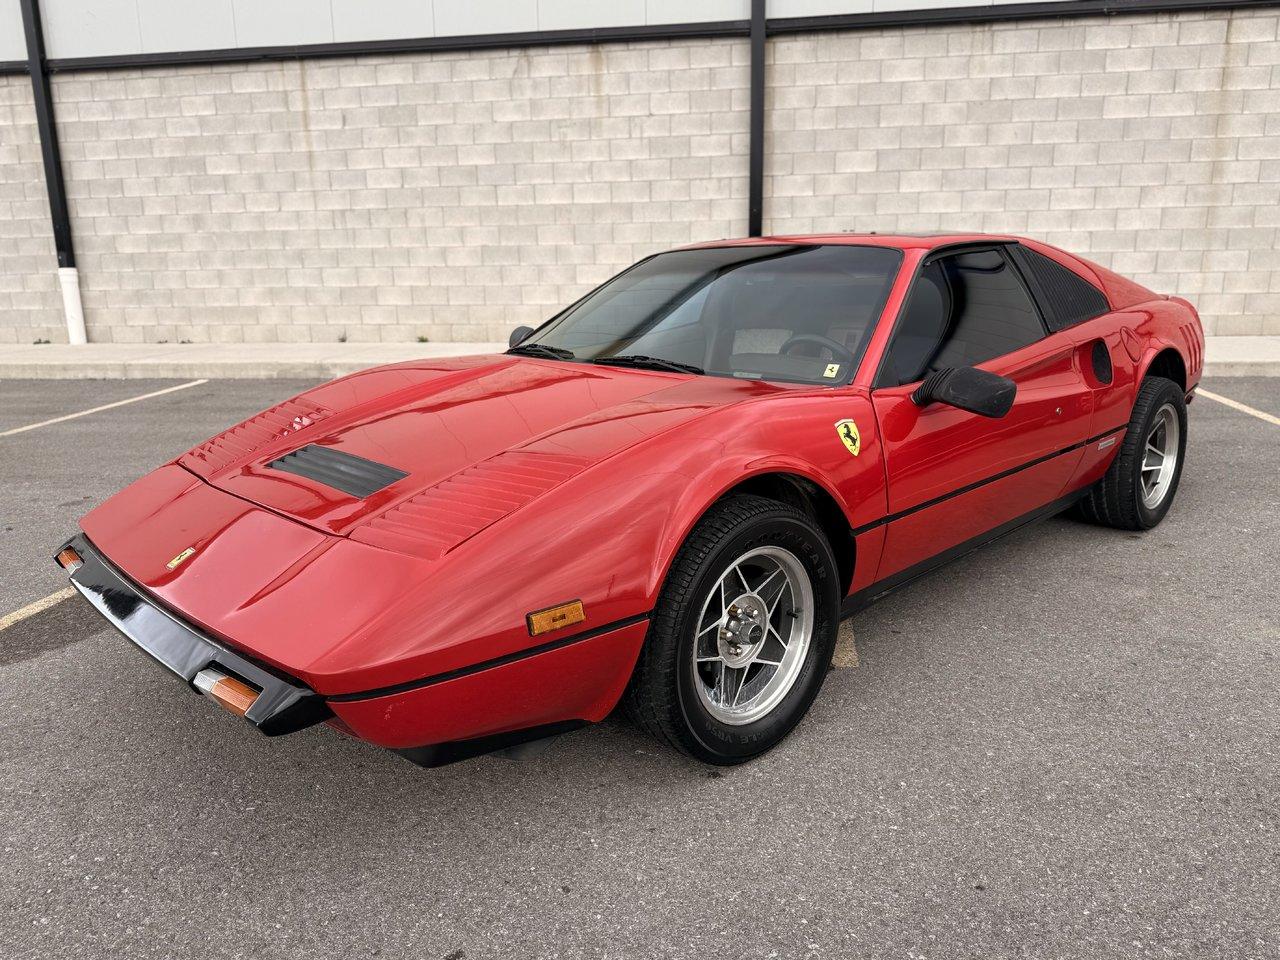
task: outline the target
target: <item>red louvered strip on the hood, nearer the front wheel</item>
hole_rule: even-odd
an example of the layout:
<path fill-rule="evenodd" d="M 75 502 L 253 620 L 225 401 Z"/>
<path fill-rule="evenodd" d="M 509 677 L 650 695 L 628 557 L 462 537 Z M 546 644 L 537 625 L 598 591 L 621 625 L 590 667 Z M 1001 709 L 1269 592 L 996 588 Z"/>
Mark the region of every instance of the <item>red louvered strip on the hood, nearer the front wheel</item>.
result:
<path fill-rule="evenodd" d="M 589 463 L 586 457 L 507 451 L 369 518 L 351 539 L 438 559 Z"/>

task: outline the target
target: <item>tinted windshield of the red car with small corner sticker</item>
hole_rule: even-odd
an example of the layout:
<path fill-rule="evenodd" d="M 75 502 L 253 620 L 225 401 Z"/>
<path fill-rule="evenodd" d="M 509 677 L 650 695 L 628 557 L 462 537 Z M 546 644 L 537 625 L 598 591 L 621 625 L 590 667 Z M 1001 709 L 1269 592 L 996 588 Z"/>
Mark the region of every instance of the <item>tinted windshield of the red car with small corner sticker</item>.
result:
<path fill-rule="evenodd" d="M 791 383 L 847 383 L 901 253 L 777 244 L 641 260 L 515 349 L 552 358 Z"/>

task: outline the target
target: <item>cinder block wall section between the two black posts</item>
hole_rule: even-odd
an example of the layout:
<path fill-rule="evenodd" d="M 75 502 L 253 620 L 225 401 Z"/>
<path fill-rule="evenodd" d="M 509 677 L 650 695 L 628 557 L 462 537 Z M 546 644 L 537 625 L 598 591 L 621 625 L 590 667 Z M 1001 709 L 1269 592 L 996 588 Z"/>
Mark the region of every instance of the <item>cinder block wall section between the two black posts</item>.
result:
<path fill-rule="evenodd" d="M 746 229 L 745 41 L 59 76 L 91 340 L 494 340 Z"/>

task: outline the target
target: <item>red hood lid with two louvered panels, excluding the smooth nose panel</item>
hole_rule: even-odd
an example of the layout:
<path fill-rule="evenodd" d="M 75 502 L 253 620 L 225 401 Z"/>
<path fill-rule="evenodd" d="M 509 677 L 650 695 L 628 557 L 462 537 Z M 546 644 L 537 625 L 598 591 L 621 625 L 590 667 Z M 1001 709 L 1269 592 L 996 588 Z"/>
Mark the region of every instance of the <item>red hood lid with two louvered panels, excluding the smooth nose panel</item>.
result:
<path fill-rule="evenodd" d="M 760 389 L 511 356 L 398 365 L 287 401 L 179 463 L 321 532 L 430 559 L 620 449 Z M 334 462 L 384 485 L 337 489 Z"/>

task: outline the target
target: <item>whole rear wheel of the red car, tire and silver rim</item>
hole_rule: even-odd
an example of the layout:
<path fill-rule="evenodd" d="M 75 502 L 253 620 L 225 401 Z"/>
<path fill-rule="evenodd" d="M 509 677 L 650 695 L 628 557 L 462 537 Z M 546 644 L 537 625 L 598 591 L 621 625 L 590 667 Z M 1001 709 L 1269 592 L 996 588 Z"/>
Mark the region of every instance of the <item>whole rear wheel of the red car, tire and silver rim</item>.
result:
<path fill-rule="evenodd" d="M 1187 451 L 1187 401 L 1181 388 L 1148 376 L 1138 389 L 1116 458 L 1076 512 L 1120 530 L 1149 530 L 1174 502 Z"/>

